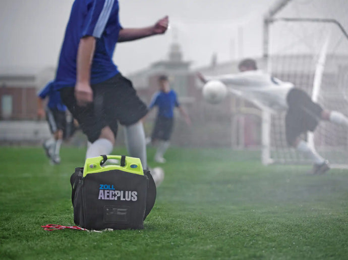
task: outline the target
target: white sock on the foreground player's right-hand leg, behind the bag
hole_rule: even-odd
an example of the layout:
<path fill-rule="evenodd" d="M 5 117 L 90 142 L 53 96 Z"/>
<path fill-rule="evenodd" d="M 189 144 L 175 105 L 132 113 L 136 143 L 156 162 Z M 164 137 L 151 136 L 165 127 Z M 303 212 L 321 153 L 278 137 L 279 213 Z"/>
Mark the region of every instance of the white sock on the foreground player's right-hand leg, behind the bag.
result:
<path fill-rule="evenodd" d="M 143 168 L 147 168 L 146 142 L 143 123 L 137 122 L 125 127 L 126 146 L 129 156 L 140 158 Z"/>

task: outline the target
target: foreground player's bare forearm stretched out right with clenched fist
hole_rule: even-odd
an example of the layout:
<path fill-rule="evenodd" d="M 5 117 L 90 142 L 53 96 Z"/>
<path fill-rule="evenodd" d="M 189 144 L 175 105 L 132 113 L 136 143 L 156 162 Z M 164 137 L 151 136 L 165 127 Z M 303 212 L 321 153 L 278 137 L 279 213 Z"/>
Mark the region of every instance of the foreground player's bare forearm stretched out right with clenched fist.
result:
<path fill-rule="evenodd" d="M 165 16 L 149 27 L 123 28 L 120 30 L 118 42 L 134 41 L 152 35 L 163 34 L 168 28 L 168 21 L 168 16 Z"/>

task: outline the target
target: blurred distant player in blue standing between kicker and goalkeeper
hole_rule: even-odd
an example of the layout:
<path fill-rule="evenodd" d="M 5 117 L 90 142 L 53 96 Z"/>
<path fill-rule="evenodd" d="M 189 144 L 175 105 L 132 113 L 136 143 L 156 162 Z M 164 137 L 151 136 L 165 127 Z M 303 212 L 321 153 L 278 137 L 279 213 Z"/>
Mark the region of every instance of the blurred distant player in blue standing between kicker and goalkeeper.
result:
<path fill-rule="evenodd" d="M 188 125 L 191 125 L 191 120 L 186 111 L 180 106 L 176 92 L 170 89 L 169 80 L 166 75 L 159 76 L 158 86 L 159 92 L 154 94 L 149 105 L 149 111 L 154 107 L 158 108 L 151 142 L 159 142 L 154 160 L 164 163 L 165 159 L 163 155 L 169 147 L 169 139 L 174 125 L 174 108 L 177 107 L 179 109 Z"/>

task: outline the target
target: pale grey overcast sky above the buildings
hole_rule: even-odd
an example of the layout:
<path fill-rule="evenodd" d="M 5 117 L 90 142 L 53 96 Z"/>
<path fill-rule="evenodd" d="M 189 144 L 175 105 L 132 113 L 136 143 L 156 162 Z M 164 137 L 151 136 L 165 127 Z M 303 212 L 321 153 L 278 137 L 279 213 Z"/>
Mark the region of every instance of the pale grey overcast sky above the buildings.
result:
<path fill-rule="evenodd" d="M 314 0 L 297 1 L 300 8 L 311 11 L 310 4 Z M 218 61 L 259 56 L 262 47 L 262 15 L 276 0 L 119 2 L 123 27 L 149 26 L 165 15 L 169 16 L 171 25 L 165 35 L 117 46 L 113 60 L 127 74 L 145 68 L 151 62 L 165 59 L 174 32 L 182 46 L 184 59 L 193 61 L 196 67 L 208 64 L 213 53 L 217 54 Z M 327 3 L 332 3 L 346 14 L 347 2 L 326 0 L 326 4 L 320 5 L 321 8 L 316 11 L 330 17 L 334 14 Z M 73 0 L 1 0 L 0 66 L 55 66 L 72 3 Z M 298 12 L 294 9 L 292 11 Z"/>

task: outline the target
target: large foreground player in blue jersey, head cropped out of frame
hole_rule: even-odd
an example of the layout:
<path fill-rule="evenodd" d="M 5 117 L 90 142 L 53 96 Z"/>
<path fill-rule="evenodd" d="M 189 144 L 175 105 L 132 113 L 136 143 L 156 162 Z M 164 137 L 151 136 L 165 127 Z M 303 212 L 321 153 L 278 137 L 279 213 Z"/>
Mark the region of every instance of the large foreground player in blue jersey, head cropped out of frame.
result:
<path fill-rule="evenodd" d="M 74 1 L 54 84 L 91 142 L 86 157 L 110 154 L 120 123 L 125 126 L 130 156 L 147 167 L 140 121 L 147 107 L 112 55 L 118 42 L 163 34 L 167 27 L 168 17 L 164 17 L 148 27 L 123 28 L 117 0 Z"/>

